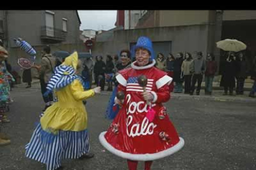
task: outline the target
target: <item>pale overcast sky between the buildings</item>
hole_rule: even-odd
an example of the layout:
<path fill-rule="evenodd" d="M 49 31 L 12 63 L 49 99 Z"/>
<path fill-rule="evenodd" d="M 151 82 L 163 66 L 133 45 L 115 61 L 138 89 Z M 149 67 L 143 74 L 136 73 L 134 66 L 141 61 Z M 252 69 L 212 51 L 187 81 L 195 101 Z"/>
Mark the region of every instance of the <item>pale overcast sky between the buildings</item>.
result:
<path fill-rule="evenodd" d="M 116 23 L 117 10 L 78 10 L 80 30 L 110 30 Z"/>

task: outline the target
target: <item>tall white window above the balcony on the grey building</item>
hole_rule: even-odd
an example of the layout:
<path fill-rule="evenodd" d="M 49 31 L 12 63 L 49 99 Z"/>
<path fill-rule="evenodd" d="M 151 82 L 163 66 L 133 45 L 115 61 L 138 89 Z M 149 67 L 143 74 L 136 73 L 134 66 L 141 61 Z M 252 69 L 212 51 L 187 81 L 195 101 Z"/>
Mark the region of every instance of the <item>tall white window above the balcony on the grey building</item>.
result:
<path fill-rule="evenodd" d="M 54 12 L 46 10 L 45 13 L 46 36 L 54 36 Z"/>

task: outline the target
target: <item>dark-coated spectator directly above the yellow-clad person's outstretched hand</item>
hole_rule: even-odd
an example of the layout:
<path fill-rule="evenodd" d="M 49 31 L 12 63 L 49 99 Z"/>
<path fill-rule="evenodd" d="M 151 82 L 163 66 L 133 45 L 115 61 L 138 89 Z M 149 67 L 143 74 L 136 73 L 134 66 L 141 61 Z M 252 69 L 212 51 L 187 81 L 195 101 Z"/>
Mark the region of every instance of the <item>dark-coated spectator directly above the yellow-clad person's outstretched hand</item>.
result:
<path fill-rule="evenodd" d="M 95 74 L 95 83 L 96 86 L 101 87 L 101 91 L 104 91 L 105 87 L 105 71 L 106 71 L 106 64 L 103 62 L 103 57 L 102 56 L 97 56 L 96 57 L 96 63 L 94 66 L 94 74 Z M 102 79 L 99 81 L 99 76 L 102 76 Z"/>

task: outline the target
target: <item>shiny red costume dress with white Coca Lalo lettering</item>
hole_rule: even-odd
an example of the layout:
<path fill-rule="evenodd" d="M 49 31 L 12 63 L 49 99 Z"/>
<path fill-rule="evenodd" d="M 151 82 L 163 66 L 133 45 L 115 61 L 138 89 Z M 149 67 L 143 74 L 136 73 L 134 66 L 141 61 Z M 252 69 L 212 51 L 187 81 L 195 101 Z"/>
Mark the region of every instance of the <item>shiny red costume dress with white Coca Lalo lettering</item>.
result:
<path fill-rule="evenodd" d="M 184 140 L 178 136 L 162 105 L 170 98 L 168 85 L 172 78 L 154 65 L 155 60 L 144 67 L 134 62 L 132 68 L 119 72 L 116 79 L 119 82 L 118 91 L 125 93 L 124 104 L 108 131 L 99 136 L 101 144 L 109 152 L 128 160 L 157 160 L 184 146 Z M 152 122 L 146 117 L 147 102 L 142 96 L 143 88 L 137 81 L 140 75 L 147 76 L 146 90 L 154 96 L 151 106 L 156 115 Z"/>

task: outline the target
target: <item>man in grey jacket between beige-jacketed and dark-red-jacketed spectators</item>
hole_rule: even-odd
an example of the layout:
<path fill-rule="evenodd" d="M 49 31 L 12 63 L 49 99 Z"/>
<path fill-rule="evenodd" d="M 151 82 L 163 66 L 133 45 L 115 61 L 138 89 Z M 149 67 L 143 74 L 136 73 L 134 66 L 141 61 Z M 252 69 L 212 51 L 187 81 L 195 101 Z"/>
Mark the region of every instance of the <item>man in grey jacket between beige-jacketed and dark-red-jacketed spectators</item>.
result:
<path fill-rule="evenodd" d="M 195 83 L 197 83 L 197 95 L 199 95 L 203 81 L 203 74 L 205 73 L 205 59 L 203 59 L 202 52 L 197 52 L 197 58 L 191 63 L 191 68 L 193 76 L 190 95 L 194 94 Z"/>

